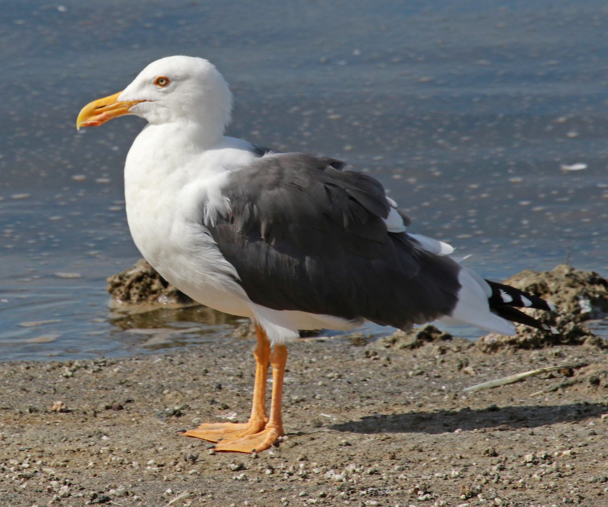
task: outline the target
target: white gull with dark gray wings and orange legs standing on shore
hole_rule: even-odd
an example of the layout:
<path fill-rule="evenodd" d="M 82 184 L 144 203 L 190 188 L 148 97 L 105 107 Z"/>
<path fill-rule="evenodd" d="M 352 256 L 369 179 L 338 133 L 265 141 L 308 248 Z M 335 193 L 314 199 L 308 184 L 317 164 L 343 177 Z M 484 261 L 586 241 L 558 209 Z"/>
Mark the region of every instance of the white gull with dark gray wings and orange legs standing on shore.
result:
<path fill-rule="evenodd" d="M 247 423 L 207 423 L 188 437 L 216 451 L 260 452 L 285 434 L 286 345 L 299 330 L 365 321 L 409 330 L 443 321 L 514 335 L 550 330 L 518 307 L 533 294 L 486 281 L 410 233 L 410 220 L 370 175 L 334 158 L 227 137 L 232 94 L 202 58 L 154 61 L 122 92 L 92 101 L 77 128 L 122 115 L 147 120 L 126 156 L 126 215 L 143 257 L 195 301 L 255 324 Z M 272 367 L 270 410 L 266 382 Z"/>

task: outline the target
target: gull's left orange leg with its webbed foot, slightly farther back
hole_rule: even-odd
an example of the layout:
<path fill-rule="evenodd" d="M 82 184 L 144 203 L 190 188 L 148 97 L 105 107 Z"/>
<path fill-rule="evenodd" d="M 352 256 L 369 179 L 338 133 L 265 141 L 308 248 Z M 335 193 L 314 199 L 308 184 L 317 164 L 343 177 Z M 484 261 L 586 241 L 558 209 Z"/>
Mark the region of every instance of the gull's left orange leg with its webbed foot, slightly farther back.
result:
<path fill-rule="evenodd" d="M 182 433 L 186 437 L 202 438 L 210 442 L 220 440 L 235 440 L 245 435 L 252 435 L 264 428 L 268 422 L 266 417 L 266 379 L 270 361 L 270 342 L 264 330 L 255 324 L 255 334 L 258 346 L 254 350 L 255 383 L 254 398 L 251 406 L 251 416 L 247 423 L 205 423 L 196 429 Z"/>

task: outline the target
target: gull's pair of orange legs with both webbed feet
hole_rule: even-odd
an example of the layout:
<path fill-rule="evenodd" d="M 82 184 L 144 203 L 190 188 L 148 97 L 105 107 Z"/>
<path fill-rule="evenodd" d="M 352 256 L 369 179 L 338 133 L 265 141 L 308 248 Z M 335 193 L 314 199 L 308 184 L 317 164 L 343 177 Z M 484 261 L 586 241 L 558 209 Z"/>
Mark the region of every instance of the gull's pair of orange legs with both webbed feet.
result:
<path fill-rule="evenodd" d="M 264 451 L 282 437 L 283 420 L 281 403 L 283 398 L 283 379 L 287 362 L 287 347 L 275 345 L 272 355 L 270 343 L 264 330 L 255 325 L 258 347 L 255 350 L 257 368 L 255 371 L 254 399 L 251 417 L 246 424 L 218 423 L 201 424 L 198 429 L 184 432 L 188 437 L 198 437 L 212 442 L 221 441 L 216 451 L 254 452 Z M 272 398 L 270 418 L 266 417 L 266 377 L 268 359 L 272 364 Z"/>

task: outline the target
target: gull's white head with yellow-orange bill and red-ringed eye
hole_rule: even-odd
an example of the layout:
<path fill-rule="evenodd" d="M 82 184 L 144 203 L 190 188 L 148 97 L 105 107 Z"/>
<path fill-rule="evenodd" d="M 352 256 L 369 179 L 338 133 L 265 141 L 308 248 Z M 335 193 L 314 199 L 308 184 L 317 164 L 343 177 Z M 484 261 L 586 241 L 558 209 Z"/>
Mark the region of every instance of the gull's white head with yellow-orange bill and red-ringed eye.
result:
<path fill-rule="evenodd" d="M 122 92 L 80 111 L 76 127 L 90 127 L 134 114 L 151 124 L 192 121 L 224 131 L 232 94 L 212 63 L 192 56 L 168 56 L 148 65 Z"/>

